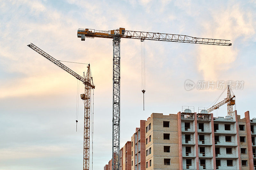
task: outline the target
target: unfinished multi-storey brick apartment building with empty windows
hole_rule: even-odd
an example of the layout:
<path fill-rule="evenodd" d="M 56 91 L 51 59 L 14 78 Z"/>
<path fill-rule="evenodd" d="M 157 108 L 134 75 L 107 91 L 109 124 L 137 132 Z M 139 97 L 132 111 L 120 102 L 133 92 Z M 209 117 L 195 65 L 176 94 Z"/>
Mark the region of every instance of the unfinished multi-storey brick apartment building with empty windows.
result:
<path fill-rule="evenodd" d="M 123 148 L 120 170 L 256 169 L 256 119 L 249 111 L 226 117 L 182 109 L 140 120 Z M 111 170 L 111 160 L 104 170 Z"/>

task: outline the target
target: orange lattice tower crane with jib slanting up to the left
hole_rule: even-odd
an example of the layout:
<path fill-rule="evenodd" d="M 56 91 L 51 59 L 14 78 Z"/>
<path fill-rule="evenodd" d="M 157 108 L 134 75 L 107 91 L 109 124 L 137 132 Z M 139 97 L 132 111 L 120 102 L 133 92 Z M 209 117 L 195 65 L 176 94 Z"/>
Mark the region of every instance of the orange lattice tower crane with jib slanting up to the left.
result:
<path fill-rule="evenodd" d="M 28 47 L 41 54 L 46 59 L 50 60 L 52 63 L 56 64 L 58 67 L 62 68 L 69 74 L 76 77 L 76 79 L 83 82 L 84 94 L 81 94 L 81 99 L 84 100 L 84 170 L 89 170 L 89 150 L 90 150 L 90 100 L 91 100 L 91 89 L 95 89 L 93 81 L 91 83 L 91 69 L 90 64 L 88 64 L 87 73 L 82 76 L 78 75 L 76 72 L 72 71 L 70 68 L 62 64 L 60 61 L 56 60 L 49 54 L 45 53 L 43 50 L 35 46 L 34 44 L 29 44 Z"/>

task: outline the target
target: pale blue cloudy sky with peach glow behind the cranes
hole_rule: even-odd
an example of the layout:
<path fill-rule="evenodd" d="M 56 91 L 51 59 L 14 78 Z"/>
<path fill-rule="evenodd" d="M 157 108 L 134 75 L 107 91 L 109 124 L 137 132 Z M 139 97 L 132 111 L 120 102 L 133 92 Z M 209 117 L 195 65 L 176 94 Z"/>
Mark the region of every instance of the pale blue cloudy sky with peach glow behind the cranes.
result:
<path fill-rule="evenodd" d="M 256 117 L 256 1 L 0 0 L 0 169 L 83 168 L 83 85 L 27 45 L 57 60 L 90 63 L 94 90 L 93 168 L 112 157 L 111 39 L 77 38 L 78 28 L 182 34 L 228 39 L 232 46 L 145 41 L 145 111 L 141 92 L 141 42 L 121 39 L 120 145 L 152 113 L 176 114 L 182 106 L 212 106 L 234 88 L 237 114 Z M 64 63 L 83 75 L 84 64 Z M 194 89 L 186 89 L 186 81 Z M 212 88 L 200 89 L 200 82 Z M 193 84 L 192 83 L 192 84 Z M 231 83 L 232 84 L 232 83 Z M 77 92 L 79 85 L 79 93 Z M 226 86 L 227 84 L 225 84 Z M 215 87 L 216 86 L 216 87 Z M 219 102 L 226 98 L 226 92 Z M 227 106 L 212 112 L 227 116 Z M 92 158 L 92 156 L 91 156 Z"/>

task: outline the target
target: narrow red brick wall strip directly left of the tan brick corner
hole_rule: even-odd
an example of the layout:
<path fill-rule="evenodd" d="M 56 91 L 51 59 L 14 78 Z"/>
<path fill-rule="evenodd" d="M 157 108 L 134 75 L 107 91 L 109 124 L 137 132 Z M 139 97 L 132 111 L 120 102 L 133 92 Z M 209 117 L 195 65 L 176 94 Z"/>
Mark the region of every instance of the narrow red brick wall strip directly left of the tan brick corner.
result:
<path fill-rule="evenodd" d="M 146 120 L 140 120 L 140 169 L 146 170 Z"/>

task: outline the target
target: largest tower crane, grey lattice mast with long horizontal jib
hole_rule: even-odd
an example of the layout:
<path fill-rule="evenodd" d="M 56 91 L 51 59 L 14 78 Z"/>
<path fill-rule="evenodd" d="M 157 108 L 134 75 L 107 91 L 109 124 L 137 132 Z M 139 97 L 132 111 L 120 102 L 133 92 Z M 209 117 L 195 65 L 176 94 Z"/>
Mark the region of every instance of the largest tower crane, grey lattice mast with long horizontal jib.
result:
<path fill-rule="evenodd" d="M 192 44 L 206 44 L 206 45 L 219 45 L 231 46 L 230 40 L 224 39 L 205 39 L 196 38 L 186 35 L 177 34 L 163 34 L 156 32 L 140 32 L 140 31 L 127 31 L 124 28 L 119 28 L 111 31 L 100 31 L 94 29 L 78 29 L 77 37 L 82 41 L 85 38 L 108 38 L 113 39 L 113 129 L 112 129 L 112 169 L 119 170 L 120 159 L 120 40 L 121 38 L 127 39 L 140 39 L 156 40 L 167 42 L 179 43 L 192 43 Z M 115 156 L 116 155 L 116 156 Z"/>

